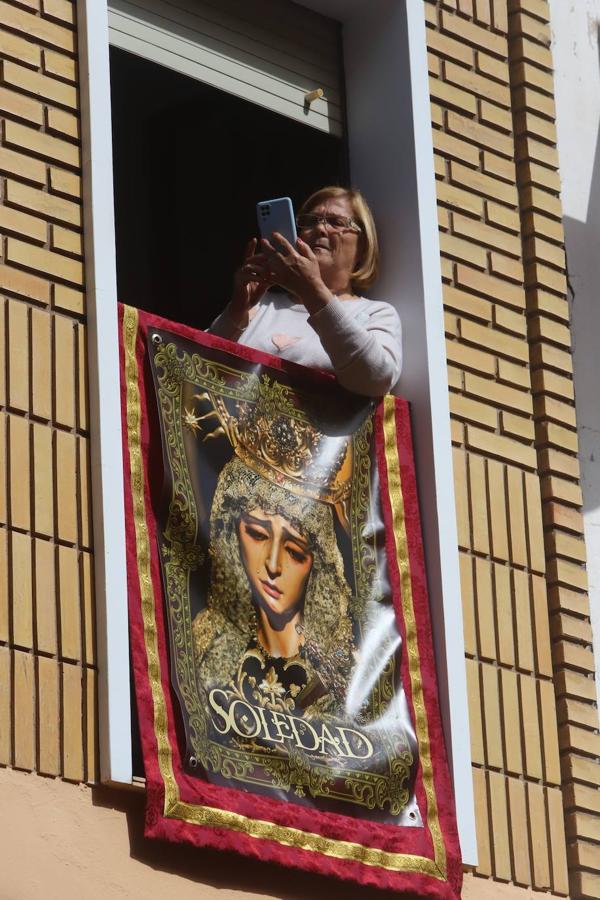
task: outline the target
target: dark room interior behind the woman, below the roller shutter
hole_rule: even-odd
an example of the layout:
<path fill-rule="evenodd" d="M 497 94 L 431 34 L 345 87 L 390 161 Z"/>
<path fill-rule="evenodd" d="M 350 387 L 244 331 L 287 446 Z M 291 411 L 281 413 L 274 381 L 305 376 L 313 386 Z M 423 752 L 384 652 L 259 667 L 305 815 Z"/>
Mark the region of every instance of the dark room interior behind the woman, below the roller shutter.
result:
<path fill-rule="evenodd" d="M 256 203 L 344 184 L 344 142 L 111 47 L 119 299 L 206 328 Z"/>

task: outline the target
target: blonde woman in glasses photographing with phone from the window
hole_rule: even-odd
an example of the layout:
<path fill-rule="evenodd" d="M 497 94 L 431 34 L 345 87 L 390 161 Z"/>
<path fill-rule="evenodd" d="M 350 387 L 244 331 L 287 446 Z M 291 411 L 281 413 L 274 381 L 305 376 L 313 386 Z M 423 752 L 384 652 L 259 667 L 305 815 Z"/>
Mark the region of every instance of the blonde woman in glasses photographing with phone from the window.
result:
<path fill-rule="evenodd" d="M 367 300 L 379 250 L 371 211 L 359 191 L 325 187 L 297 217 L 296 246 L 252 240 L 233 296 L 211 331 L 301 365 L 335 372 L 350 391 L 391 390 L 402 365 L 400 320 L 389 303 Z M 273 290 L 277 286 L 279 290 Z"/>

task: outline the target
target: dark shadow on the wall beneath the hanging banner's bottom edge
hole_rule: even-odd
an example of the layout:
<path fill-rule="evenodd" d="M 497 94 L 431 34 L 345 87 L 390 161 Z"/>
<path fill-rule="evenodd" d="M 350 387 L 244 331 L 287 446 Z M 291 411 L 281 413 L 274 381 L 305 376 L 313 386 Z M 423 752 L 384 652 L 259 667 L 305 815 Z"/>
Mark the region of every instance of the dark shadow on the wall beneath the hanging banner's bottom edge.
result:
<path fill-rule="evenodd" d="M 176 878 L 214 888 L 215 894 L 223 891 L 229 897 L 234 891 L 239 891 L 240 895 L 247 894 L 249 898 L 272 897 L 274 900 L 306 900 L 307 897 L 372 900 L 374 894 L 377 900 L 398 898 L 394 891 L 361 887 L 334 877 L 259 862 L 237 853 L 148 840 L 144 837 L 145 801 L 145 794 L 141 790 L 133 792 L 108 787 L 96 787 L 92 790 L 94 806 L 112 809 L 127 817 L 132 859 L 156 871 L 171 873 Z M 173 884 L 173 893 L 177 894 L 176 882 Z M 198 897 L 202 896 L 202 893 L 198 894 Z"/>

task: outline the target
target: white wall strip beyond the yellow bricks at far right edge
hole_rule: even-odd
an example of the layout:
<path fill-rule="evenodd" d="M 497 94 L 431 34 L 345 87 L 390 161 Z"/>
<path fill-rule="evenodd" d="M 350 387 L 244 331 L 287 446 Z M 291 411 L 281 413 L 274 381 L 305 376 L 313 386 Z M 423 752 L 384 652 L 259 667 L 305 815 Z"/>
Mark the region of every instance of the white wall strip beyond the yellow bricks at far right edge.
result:
<path fill-rule="evenodd" d="M 550 0 L 585 540 L 600 673 L 600 0 Z"/>

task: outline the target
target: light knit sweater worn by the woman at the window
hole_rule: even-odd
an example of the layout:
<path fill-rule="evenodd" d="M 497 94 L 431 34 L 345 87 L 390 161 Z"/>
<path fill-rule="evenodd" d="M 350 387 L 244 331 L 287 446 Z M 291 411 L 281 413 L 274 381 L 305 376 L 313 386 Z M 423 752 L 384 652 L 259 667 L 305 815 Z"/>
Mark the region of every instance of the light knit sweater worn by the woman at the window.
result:
<path fill-rule="evenodd" d="M 368 397 L 387 393 L 400 377 L 400 319 L 393 306 L 380 300 L 332 297 L 309 316 L 302 303 L 268 291 L 251 310 L 245 329 L 235 325 L 226 307 L 209 331 L 303 366 L 333 371 L 343 387 Z"/>

